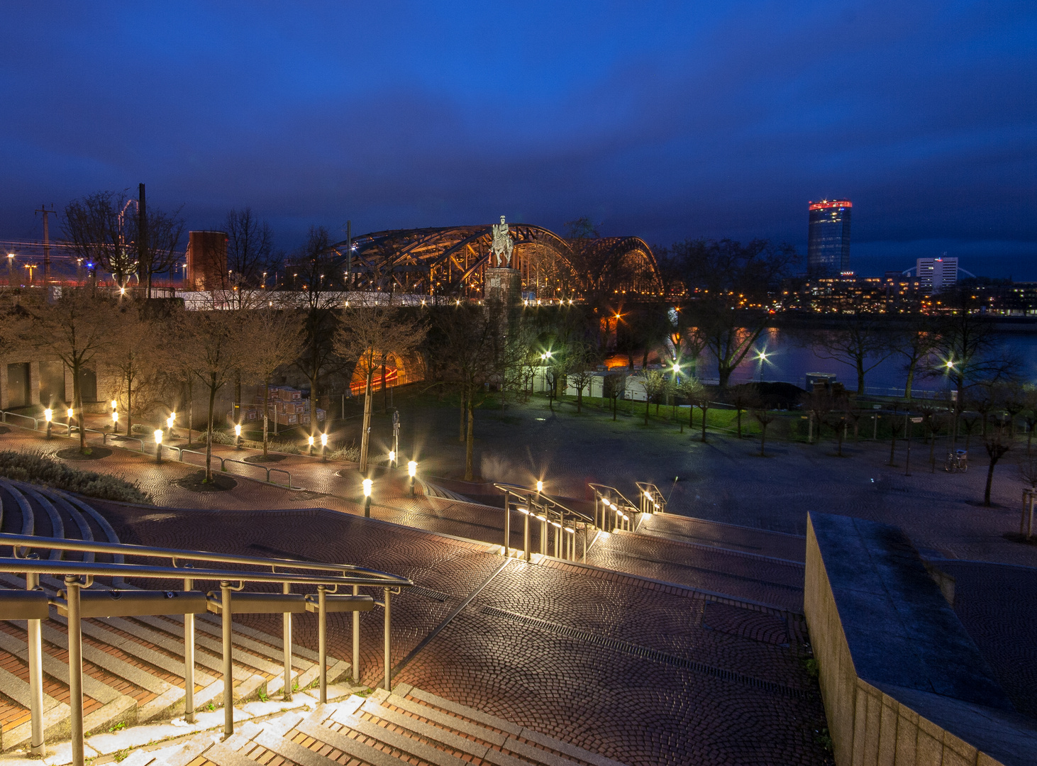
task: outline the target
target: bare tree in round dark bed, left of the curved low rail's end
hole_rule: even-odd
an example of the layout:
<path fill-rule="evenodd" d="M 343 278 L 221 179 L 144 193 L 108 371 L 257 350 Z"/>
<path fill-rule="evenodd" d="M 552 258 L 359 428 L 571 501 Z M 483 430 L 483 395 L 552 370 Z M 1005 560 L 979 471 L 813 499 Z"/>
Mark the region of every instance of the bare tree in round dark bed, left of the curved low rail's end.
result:
<path fill-rule="evenodd" d="M 213 428 L 216 395 L 233 379 L 248 353 L 244 317 L 237 311 L 183 311 L 176 317 L 176 352 L 208 393 L 205 481 L 213 481 Z"/>

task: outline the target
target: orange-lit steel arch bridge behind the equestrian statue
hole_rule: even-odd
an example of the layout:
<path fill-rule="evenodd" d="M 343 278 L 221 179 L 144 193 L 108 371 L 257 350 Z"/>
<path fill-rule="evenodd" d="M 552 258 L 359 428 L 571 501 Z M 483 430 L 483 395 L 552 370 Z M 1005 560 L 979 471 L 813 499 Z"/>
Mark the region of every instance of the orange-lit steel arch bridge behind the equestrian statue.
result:
<path fill-rule="evenodd" d="M 663 292 L 655 256 L 639 237 L 566 240 L 532 224 L 508 228 L 527 295 L 596 302 Z M 352 240 L 352 257 L 344 240 L 329 251 L 353 289 L 479 299 L 492 243 L 491 226 L 444 226 L 363 234 Z"/>

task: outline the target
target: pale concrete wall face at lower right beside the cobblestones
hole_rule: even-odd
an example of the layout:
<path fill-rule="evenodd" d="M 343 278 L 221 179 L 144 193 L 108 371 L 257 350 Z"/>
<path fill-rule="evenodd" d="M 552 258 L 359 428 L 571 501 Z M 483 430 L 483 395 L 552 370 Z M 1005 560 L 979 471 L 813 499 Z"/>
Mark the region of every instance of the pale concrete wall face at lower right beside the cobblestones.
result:
<path fill-rule="evenodd" d="M 880 689 L 858 676 L 814 524 L 809 518 L 804 609 L 820 672 L 821 697 L 837 766 L 996 766 L 1017 763 L 1014 759 L 1002 761 L 983 753 L 980 747 L 916 711 L 916 707 L 931 708 L 929 698 L 937 696 L 908 688 L 898 689 L 887 684 L 882 684 L 886 689 Z M 858 615 L 857 618 L 867 620 L 868 616 Z M 870 649 L 876 653 L 888 650 L 882 646 Z M 873 660 L 869 658 L 868 661 Z M 922 704 L 909 704 L 917 702 Z M 948 701 L 946 708 L 938 710 L 938 717 L 946 725 L 949 718 L 971 716 L 971 725 L 974 726 L 977 719 L 982 722 L 988 712 L 982 706 L 952 700 Z M 1003 721 L 999 719 L 992 726 L 998 729 L 1003 727 Z M 959 733 L 962 731 L 957 727 L 956 730 Z M 1005 739 L 1004 736 L 999 737 L 997 731 L 990 734 L 1002 741 Z M 1024 746 L 1024 758 L 1027 758 L 1028 750 Z M 1021 762 L 1033 763 L 1029 760 Z"/>

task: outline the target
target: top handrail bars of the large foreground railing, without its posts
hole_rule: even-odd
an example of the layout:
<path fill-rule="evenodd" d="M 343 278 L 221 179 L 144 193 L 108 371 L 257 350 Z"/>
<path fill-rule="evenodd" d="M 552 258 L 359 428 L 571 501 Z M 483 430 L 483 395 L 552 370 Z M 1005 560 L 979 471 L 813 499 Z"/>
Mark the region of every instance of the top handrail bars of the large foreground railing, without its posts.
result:
<path fill-rule="evenodd" d="M 92 554 L 122 554 L 123 556 L 151 556 L 170 558 L 173 567 L 176 569 L 177 577 L 183 577 L 185 572 L 183 567 L 176 566 L 177 560 L 209 561 L 220 564 L 243 564 L 246 566 L 261 567 L 289 567 L 291 569 L 309 569 L 311 571 L 340 571 L 343 577 L 348 577 L 346 572 L 362 572 L 372 577 L 371 581 L 349 579 L 349 585 L 362 586 L 383 586 L 388 580 L 393 587 L 409 587 L 414 585 L 408 577 L 400 577 L 389 572 L 381 572 L 376 569 L 358 567 L 353 564 L 333 564 L 326 562 L 304 562 L 295 559 L 272 559 L 258 556 L 235 556 L 229 554 L 214 554 L 207 550 L 189 550 L 181 548 L 160 548 L 149 545 L 130 545 L 128 543 L 94 542 L 85 540 L 65 540 L 53 537 L 34 537 L 32 535 L 6 535 L 0 534 L 0 545 L 9 544 L 19 547 L 46 548 L 48 550 L 78 550 Z M 21 570 L 19 570 L 21 571 Z M 191 569 L 191 576 L 198 578 L 198 569 Z M 277 578 L 269 581 L 283 581 L 278 575 Z M 324 581 L 324 580 L 321 580 Z"/>

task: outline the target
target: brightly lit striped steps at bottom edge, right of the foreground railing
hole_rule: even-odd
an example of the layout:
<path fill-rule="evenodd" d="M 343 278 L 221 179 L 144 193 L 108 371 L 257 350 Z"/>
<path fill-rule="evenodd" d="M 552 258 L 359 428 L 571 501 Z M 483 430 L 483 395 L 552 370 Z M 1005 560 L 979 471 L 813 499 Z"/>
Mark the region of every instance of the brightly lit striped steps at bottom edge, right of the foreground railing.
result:
<path fill-rule="evenodd" d="M 604 756 L 400 684 L 132 754 L 123 766 L 622 766 Z"/>

